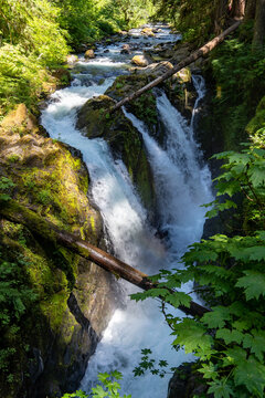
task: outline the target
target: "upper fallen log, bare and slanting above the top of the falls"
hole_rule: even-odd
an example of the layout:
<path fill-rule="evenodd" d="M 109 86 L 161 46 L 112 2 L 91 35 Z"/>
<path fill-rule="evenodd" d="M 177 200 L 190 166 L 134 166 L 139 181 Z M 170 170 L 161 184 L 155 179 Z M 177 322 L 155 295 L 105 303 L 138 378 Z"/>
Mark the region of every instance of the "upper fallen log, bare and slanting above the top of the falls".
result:
<path fill-rule="evenodd" d="M 119 101 L 117 104 L 115 104 L 109 111 L 108 113 L 114 113 L 115 111 L 119 109 L 121 106 L 124 106 L 125 104 L 127 104 L 128 102 L 138 98 L 141 94 L 144 94 L 145 92 L 147 92 L 148 90 L 151 90 L 153 87 L 156 87 L 158 84 L 162 83 L 165 80 L 171 77 L 174 73 L 179 72 L 180 70 L 182 70 L 182 67 L 188 66 L 189 64 L 191 64 L 192 62 L 197 61 L 199 57 L 206 55 L 210 51 L 212 51 L 218 44 L 220 44 L 224 38 L 232 33 L 236 28 L 239 28 L 239 25 L 241 24 L 241 21 L 237 21 L 235 23 L 233 23 L 229 29 L 226 29 L 225 31 L 223 31 L 221 34 L 219 34 L 218 36 L 215 36 L 213 40 L 211 40 L 210 42 L 208 42 L 206 44 L 204 44 L 202 48 L 200 48 L 199 50 L 194 51 L 193 53 L 191 53 L 190 56 L 186 57 L 183 61 L 179 62 L 177 65 L 174 65 L 171 70 L 169 70 L 168 72 L 166 72 L 165 74 L 162 74 L 161 76 L 157 77 L 156 80 L 153 80 L 152 82 L 150 82 L 149 84 L 145 85 L 144 87 L 139 88 L 138 91 L 136 91 L 135 93 L 128 95 L 126 98 Z"/>

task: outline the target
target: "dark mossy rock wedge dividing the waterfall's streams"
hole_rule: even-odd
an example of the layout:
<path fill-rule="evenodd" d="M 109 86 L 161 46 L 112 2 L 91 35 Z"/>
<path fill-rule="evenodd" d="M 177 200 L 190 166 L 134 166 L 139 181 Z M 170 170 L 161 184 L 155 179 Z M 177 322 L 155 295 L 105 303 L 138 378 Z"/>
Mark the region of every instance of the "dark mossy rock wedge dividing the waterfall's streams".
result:
<path fill-rule="evenodd" d="M 123 111 L 108 114 L 108 108 L 113 105 L 114 101 L 107 95 L 88 100 L 77 115 L 76 126 L 89 138 L 103 137 L 107 140 L 114 157 L 121 158 L 126 165 L 151 217 L 156 205 L 153 178 L 142 137 Z"/>

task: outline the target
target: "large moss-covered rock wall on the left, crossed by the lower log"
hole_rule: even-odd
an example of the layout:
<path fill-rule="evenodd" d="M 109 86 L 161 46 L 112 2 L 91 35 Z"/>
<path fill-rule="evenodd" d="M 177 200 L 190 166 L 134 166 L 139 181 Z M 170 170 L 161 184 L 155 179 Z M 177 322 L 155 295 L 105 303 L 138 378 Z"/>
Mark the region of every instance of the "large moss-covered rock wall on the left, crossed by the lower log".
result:
<path fill-rule="evenodd" d="M 88 201 L 89 178 L 78 151 L 40 133 L 23 104 L 3 119 L 0 178 L 13 181 L 9 195 L 61 229 L 103 245 L 100 214 Z M 10 359 L 13 387 L 3 373 L 0 396 L 60 397 L 78 387 L 114 311 L 115 282 L 97 265 L 25 227 L 4 219 L 0 224 L 1 261 L 23 259 L 24 282 L 38 295 L 15 338 L 3 336 L 2 343 L 17 353 Z"/>

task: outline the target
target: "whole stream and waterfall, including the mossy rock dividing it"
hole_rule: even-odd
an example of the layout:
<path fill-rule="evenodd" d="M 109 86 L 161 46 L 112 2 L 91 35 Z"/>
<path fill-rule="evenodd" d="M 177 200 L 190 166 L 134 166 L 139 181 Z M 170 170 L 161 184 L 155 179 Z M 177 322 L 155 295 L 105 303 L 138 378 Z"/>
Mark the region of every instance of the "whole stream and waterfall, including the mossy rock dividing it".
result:
<path fill-rule="evenodd" d="M 146 102 L 138 100 L 115 115 L 105 109 L 170 67 L 161 55 L 172 56 L 179 39 L 158 24 L 146 33 L 134 29 L 117 42 L 100 43 L 86 57 L 80 55 L 71 86 L 51 96 L 41 119 L 53 139 L 82 153 L 91 178 L 89 197 L 103 218 L 105 245 L 147 274 L 181 266 L 181 255 L 203 232 L 201 205 L 212 200 L 211 175 L 193 127 L 204 82 L 187 70 L 146 95 Z M 140 67 L 131 64 L 135 55 L 138 65 L 144 61 Z M 188 86 L 193 94 L 183 90 Z M 124 375 L 123 392 L 132 398 L 166 398 L 170 374 L 134 377 L 141 349 L 151 349 L 153 358 L 174 367 L 193 358 L 171 348 L 173 337 L 158 302 L 135 303 L 129 294 L 136 289 L 117 283 L 116 310 L 80 387 L 89 391 L 98 373 L 118 369 Z M 100 287 L 100 277 L 97 284 Z M 183 290 L 190 292 L 192 286 Z"/>

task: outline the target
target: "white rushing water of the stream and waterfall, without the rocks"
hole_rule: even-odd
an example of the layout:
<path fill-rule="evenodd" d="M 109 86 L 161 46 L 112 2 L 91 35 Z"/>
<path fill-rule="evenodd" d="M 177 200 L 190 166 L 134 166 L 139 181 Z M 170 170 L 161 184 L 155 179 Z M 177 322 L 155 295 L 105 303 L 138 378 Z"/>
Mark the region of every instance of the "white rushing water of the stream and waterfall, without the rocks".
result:
<path fill-rule="evenodd" d="M 129 43 L 131 49 L 137 49 L 134 53 L 140 54 L 147 48 L 178 39 L 167 27 L 158 28 L 153 38 L 144 38 L 140 30 L 131 30 L 126 42 L 98 46 L 93 60 L 87 61 L 81 55 L 72 71 L 72 85 L 53 94 L 42 113 L 42 124 L 52 138 L 82 151 L 92 180 L 91 195 L 102 213 L 114 254 L 147 274 L 181 266 L 181 255 L 189 244 L 201 239 L 203 232 L 205 210 L 201 205 L 212 200 L 211 175 L 193 136 L 197 109 L 205 91 L 203 78 L 200 75 L 192 77 L 198 97 L 190 123 L 172 106 L 167 95 L 156 88 L 157 113 L 165 132 L 162 145 L 137 115 L 123 109 L 142 137 L 153 175 L 153 218 L 159 234 L 155 233 L 153 222 L 151 224 L 125 164 L 114 159 L 103 138 L 84 136 L 76 128 L 76 115 L 87 100 L 104 94 L 117 76 L 128 74 L 132 55 L 120 54 L 123 44 Z M 131 394 L 132 398 L 166 398 L 170 375 L 134 378 L 132 369 L 140 360 L 140 350 L 150 348 L 155 358 L 166 359 L 174 367 L 183 360 L 192 360 L 192 357 L 170 348 L 172 337 L 159 312 L 159 304 L 152 300 L 136 304 L 128 295 L 137 287 L 125 281 L 118 283 L 123 291 L 123 305 L 115 311 L 89 359 L 81 388 L 89 391 L 98 373 L 117 369 L 124 375 L 124 394 Z M 183 290 L 190 292 L 192 286 L 186 285 Z"/>

